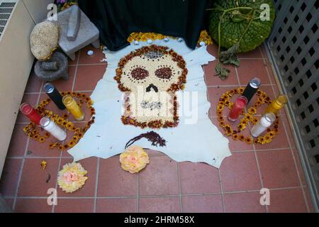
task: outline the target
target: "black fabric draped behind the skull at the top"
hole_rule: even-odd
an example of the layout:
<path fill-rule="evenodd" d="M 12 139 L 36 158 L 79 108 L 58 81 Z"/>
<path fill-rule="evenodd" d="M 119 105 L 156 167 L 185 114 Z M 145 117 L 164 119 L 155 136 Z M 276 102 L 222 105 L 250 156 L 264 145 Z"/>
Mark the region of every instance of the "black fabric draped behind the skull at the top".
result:
<path fill-rule="evenodd" d="M 109 50 L 129 45 L 132 32 L 154 32 L 184 38 L 194 49 L 209 0 L 79 0 L 79 7 L 99 28 Z"/>

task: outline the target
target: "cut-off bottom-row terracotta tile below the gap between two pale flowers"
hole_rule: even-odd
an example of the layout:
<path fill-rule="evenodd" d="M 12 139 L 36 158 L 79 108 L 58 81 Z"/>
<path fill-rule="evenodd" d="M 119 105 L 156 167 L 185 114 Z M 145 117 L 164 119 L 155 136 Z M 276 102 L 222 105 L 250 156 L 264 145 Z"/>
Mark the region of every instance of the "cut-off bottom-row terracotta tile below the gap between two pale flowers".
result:
<path fill-rule="evenodd" d="M 138 199 L 97 199 L 96 213 L 136 213 Z"/>

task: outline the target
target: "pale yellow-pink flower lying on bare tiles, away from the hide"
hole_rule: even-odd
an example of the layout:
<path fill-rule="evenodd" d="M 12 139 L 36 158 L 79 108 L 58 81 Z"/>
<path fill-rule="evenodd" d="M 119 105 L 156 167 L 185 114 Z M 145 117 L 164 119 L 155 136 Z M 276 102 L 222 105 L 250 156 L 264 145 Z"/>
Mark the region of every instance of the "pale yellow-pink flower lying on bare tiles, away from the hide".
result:
<path fill-rule="evenodd" d="M 88 179 L 86 174 L 87 171 L 80 163 L 67 163 L 57 175 L 57 184 L 64 192 L 75 192 L 85 184 Z"/>

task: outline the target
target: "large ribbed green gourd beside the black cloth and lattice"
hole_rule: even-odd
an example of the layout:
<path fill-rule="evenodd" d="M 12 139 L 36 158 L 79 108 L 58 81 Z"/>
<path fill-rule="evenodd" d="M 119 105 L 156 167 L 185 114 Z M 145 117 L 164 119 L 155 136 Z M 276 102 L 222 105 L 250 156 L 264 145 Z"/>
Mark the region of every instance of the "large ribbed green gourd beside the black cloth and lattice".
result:
<path fill-rule="evenodd" d="M 275 18 L 272 0 L 216 0 L 211 11 L 209 32 L 220 47 L 229 49 L 237 45 L 236 52 L 247 52 L 261 45 L 269 36 Z M 269 20 L 265 8 L 269 6 Z M 262 6 L 262 7 L 261 7 Z"/>

